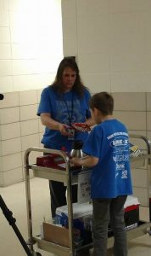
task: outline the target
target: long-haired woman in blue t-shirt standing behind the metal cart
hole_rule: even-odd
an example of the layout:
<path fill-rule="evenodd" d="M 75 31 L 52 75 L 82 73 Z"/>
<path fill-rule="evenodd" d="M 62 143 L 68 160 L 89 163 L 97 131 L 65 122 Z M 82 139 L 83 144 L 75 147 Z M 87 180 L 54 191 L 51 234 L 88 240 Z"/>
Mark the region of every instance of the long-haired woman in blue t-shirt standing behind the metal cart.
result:
<path fill-rule="evenodd" d="M 55 81 L 42 90 L 37 114 L 40 115 L 45 132 L 42 143 L 45 148 L 65 148 L 70 152 L 73 140 L 85 141 L 87 131 L 70 129 L 72 123 L 93 125 L 89 109 L 90 93 L 81 83 L 79 68 L 73 58 L 65 57 L 59 64 Z M 66 205 L 64 183 L 50 181 L 52 217 L 57 207 Z M 76 190 L 76 188 L 73 189 Z M 73 202 L 77 193 L 73 192 Z"/>

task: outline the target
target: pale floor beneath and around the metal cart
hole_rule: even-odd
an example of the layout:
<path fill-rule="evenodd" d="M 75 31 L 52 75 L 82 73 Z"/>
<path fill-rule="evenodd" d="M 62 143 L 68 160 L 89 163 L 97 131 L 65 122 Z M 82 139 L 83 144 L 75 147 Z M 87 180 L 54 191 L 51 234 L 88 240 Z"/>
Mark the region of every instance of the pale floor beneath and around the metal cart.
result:
<path fill-rule="evenodd" d="M 2 195 L 8 209 L 13 212 L 16 218 L 16 225 L 25 241 L 27 235 L 27 221 L 26 221 L 26 202 L 25 202 L 25 183 L 17 183 L 7 188 L 0 188 L 0 195 Z M 31 179 L 31 205 L 32 205 L 32 222 L 34 235 L 40 233 L 40 225 L 43 218 L 50 218 L 50 200 L 48 191 L 48 180 L 42 178 Z M 140 207 L 141 219 L 148 221 L 148 207 Z M 0 211 L 0 256 L 24 256 L 26 255 L 24 248 L 14 233 L 14 230 L 9 226 L 7 219 L 3 212 Z M 36 248 L 36 247 L 35 247 Z M 51 256 L 52 253 L 40 251 L 42 256 Z M 90 254 L 92 254 L 90 252 Z M 112 254 L 112 248 L 109 248 L 108 255 Z M 140 236 L 135 240 L 129 242 L 129 256 L 151 255 L 151 237 L 148 235 Z M 119 255 L 120 256 L 120 255 Z"/>

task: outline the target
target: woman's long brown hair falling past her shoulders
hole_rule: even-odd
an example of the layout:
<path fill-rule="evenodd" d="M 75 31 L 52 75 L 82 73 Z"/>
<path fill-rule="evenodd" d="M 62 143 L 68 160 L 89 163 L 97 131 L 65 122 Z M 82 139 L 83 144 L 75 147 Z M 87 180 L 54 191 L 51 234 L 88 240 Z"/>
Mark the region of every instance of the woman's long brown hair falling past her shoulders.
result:
<path fill-rule="evenodd" d="M 73 85 L 72 90 L 74 90 L 77 95 L 82 97 L 84 95 L 84 90 L 86 89 L 86 86 L 84 86 L 84 84 L 82 84 L 81 82 L 79 68 L 76 64 L 76 61 L 72 57 L 64 57 L 64 59 L 59 63 L 57 74 L 51 87 L 53 87 L 53 89 L 58 91 L 59 93 L 63 92 L 63 72 L 66 67 L 70 67 L 76 72 L 76 81 Z"/>

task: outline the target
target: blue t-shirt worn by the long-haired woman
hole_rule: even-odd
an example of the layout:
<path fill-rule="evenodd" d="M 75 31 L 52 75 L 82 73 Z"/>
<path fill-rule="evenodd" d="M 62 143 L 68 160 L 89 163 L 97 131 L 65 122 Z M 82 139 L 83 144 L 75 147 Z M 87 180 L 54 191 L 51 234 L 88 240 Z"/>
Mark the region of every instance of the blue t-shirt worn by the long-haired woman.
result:
<path fill-rule="evenodd" d="M 42 90 L 37 115 L 50 113 L 52 119 L 65 125 L 70 125 L 70 123 L 83 123 L 86 119 L 91 117 L 89 109 L 90 97 L 90 93 L 87 89 L 84 90 L 84 96 L 80 97 L 73 90 L 59 94 L 57 91 L 53 90 L 51 86 L 48 86 Z M 76 131 L 75 139 L 85 141 L 87 136 L 87 132 Z M 46 148 L 59 150 L 64 146 L 66 151 L 70 152 L 73 141 L 68 140 L 68 137 L 62 136 L 60 131 L 46 127 L 42 143 Z"/>

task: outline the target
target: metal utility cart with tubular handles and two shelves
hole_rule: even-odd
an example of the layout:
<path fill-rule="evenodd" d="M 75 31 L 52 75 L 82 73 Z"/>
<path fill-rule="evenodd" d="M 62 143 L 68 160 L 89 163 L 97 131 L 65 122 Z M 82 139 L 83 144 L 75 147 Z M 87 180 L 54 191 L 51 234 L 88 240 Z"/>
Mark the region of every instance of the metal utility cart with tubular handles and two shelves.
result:
<path fill-rule="evenodd" d="M 150 159 L 151 159 L 151 148 L 150 142 L 146 137 L 138 136 L 138 135 L 130 135 L 131 138 L 141 139 L 145 142 L 147 146 L 147 150 L 145 154 L 138 156 L 136 158 L 131 158 L 131 167 L 139 167 L 144 165 L 144 161 L 147 162 L 148 170 L 151 171 Z M 58 154 L 60 157 L 64 159 L 65 168 L 64 170 L 59 170 L 58 168 L 52 167 L 42 167 L 36 166 L 36 164 L 29 163 L 29 156 L 32 152 L 41 152 L 43 154 Z M 60 150 L 53 150 L 48 148 L 28 148 L 25 151 L 25 193 L 26 193 L 26 207 L 27 207 L 27 227 L 28 227 L 28 246 L 31 250 L 32 255 L 41 255 L 34 249 L 34 245 L 36 247 L 49 252 L 55 253 L 60 256 L 75 256 L 79 250 L 91 248 L 91 244 L 87 244 L 82 247 L 75 247 L 74 239 L 73 239 L 73 208 L 72 208 L 72 193 L 71 186 L 72 180 L 75 174 L 71 172 L 70 161 L 68 156 Z M 70 247 L 63 247 L 59 244 L 45 241 L 41 238 L 41 236 L 35 236 L 32 232 L 32 214 L 31 214 L 31 189 L 30 189 L 30 170 L 33 170 L 34 177 L 45 178 L 48 180 L 54 180 L 63 182 L 67 187 L 67 205 L 68 205 L 68 223 L 69 223 L 69 240 Z M 150 172 L 151 173 L 151 172 Z M 144 234 L 149 234 L 151 236 L 151 199 L 149 198 L 149 222 L 142 222 L 137 226 L 137 228 L 127 230 L 127 239 L 130 241 L 131 239 L 137 238 L 138 236 L 143 236 Z M 109 237 L 109 246 L 113 245 L 113 236 Z"/>

